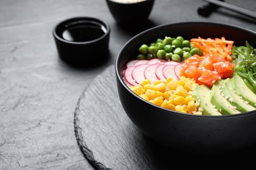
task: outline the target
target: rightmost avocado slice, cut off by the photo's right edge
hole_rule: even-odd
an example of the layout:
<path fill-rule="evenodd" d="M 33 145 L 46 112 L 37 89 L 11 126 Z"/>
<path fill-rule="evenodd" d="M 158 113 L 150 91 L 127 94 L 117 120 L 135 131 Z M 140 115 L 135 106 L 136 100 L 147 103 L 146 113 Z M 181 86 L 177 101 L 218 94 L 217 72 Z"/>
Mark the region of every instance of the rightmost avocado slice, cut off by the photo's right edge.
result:
<path fill-rule="evenodd" d="M 256 107 L 256 94 L 246 86 L 240 75 L 234 75 L 231 78 L 231 86 L 238 95 L 249 102 L 249 105 Z"/>

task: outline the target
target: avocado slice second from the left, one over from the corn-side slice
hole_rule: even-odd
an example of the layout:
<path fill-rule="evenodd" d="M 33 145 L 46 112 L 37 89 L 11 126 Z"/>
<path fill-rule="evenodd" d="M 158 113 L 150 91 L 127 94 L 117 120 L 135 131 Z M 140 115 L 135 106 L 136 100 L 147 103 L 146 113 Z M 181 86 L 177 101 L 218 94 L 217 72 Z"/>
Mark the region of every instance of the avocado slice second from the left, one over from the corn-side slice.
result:
<path fill-rule="evenodd" d="M 236 109 L 233 105 L 231 105 L 223 93 L 221 93 L 221 85 L 223 84 L 223 80 L 217 80 L 213 87 L 211 88 L 210 101 L 211 104 L 216 106 L 216 109 L 219 110 L 222 114 L 238 114 L 240 111 Z"/>

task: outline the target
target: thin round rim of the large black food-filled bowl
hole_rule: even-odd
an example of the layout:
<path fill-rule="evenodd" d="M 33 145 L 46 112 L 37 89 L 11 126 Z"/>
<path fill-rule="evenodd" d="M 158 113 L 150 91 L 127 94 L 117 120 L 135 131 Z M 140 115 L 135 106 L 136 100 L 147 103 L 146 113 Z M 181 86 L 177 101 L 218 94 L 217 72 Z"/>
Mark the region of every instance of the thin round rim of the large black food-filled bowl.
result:
<path fill-rule="evenodd" d="M 119 73 L 119 58 L 120 58 L 120 55 L 121 55 L 121 52 L 123 51 L 123 49 L 125 48 L 125 46 L 127 46 L 127 44 L 131 43 L 132 41 L 134 41 L 135 39 L 137 39 L 138 37 L 152 31 L 153 29 L 159 29 L 160 27 L 166 27 L 166 26 L 171 26 L 171 25 L 183 25 L 183 24 L 207 24 L 207 25 L 222 25 L 224 27 L 230 27 L 230 28 L 236 28 L 236 29 L 242 29 L 244 31 L 249 31 L 251 33 L 254 33 L 256 35 L 256 31 L 253 31 L 251 29 L 247 29 L 245 27 L 241 27 L 241 26 L 238 26 L 238 25 L 232 25 L 232 24 L 224 24 L 224 23 L 219 23 L 219 22 L 175 22 L 175 23 L 171 23 L 171 24 L 161 24 L 161 25 L 157 25 L 155 27 L 151 27 L 150 29 L 146 29 L 140 33 L 138 33 L 137 35 L 135 35 L 134 37 L 132 37 L 131 39 L 129 39 L 129 41 L 127 41 L 123 47 L 121 48 L 121 50 L 119 50 L 119 53 L 117 54 L 117 58 L 116 58 L 116 61 L 115 61 L 115 72 L 116 72 L 116 76 L 117 76 L 117 80 L 119 82 L 121 82 L 121 85 L 126 89 L 128 90 L 128 92 L 130 92 L 132 95 L 134 95 L 135 97 L 137 97 L 138 99 L 148 103 L 149 105 L 152 105 L 154 107 L 157 107 L 158 109 L 163 109 L 167 112 L 175 112 L 175 114 L 181 114 L 181 115 L 184 115 L 184 116 L 198 116 L 198 117 L 201 117 L 201 118 L 230 118 L 230 117 L 234 117 L 234 116 L 247 116 L 248 114 L 255 114 L 255 110 L 251 110 L 249 112 L 241 112 L 239 114 L 230 114 L 230 115 L 216 115 L 216 116 L 213 116 L 213 115 L 199 115 L 199 114 L 187 114 L 187 113 L 183 113 L 183 112 L 177 112 L 175 110 L 169 110 L 169 109 L 165 109 L 163 107 L 160 107 L 158 105 L 154 105 L 153 103 L 150 103 L 149 101 L 146 101 L 145 99 L 142 99 L 141 97 L 139 97 L 139 95 L 136 95 L 135 93 L 133 93 L 133 91 L 131 91 L 131 89 L 127 86 L 127 84 L 125 84 L 125 82 L 123 81 L 123 78 L 121 77 L 120 73 Z M 161 112 L 161 114 L 165 114 L 165 112 Z M 160 114 L 160 113 L 159 113 Z M 169 113 L 168 113 L 169 114 Z"/>

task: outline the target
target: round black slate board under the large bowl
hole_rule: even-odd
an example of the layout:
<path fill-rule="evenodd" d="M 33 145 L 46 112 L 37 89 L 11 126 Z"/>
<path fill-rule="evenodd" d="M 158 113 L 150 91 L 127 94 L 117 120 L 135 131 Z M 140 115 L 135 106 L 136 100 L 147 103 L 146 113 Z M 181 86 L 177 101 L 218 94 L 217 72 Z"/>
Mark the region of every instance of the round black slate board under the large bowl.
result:
<path fill-rule="evenodd" d="M 256 146 L 226 154 L 199 155 L 167 148 L 140 133 L 119 101 L 114 65 L 81 94 L 74 126 L 77 143 L 95 169 L 256 167 Z"/>

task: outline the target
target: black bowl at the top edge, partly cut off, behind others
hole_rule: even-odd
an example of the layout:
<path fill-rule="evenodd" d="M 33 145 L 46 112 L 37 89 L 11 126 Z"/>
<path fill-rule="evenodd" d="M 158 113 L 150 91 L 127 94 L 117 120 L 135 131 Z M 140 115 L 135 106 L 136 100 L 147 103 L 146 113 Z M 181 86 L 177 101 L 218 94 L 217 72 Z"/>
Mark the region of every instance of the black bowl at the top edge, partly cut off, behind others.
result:
<path fill-rule="evenodd" d="M 154 0 L 137 3 L 119 3 L 117 0 L 106 0 L 106 3 L 116 22 L 127 25 L 147 20 L 154 5 Z"/>

